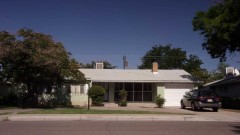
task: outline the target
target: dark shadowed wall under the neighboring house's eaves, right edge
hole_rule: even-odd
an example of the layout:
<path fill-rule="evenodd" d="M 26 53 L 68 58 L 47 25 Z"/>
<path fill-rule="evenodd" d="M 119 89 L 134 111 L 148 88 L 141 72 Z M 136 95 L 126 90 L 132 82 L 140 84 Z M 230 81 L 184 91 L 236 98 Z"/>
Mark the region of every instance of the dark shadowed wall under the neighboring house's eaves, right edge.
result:
<path fill-rule="evenodd" d="M 220 97 L 231 97 L 231 98 L 239 98 L 240 97 L 240 84 L 233 83 L 228 85 L 215 86 L 215 92 Z"/>

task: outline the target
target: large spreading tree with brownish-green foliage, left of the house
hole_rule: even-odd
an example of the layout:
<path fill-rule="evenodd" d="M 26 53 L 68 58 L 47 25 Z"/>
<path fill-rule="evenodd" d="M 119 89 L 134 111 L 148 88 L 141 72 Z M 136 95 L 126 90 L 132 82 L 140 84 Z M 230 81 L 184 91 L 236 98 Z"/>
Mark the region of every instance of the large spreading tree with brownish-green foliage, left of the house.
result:
<path fill-rule="evenodd" d="M 42 94 L 44 88 L 51 91 L 56 85 L 86 81 L 76 60 L 50 35 L 25 28 L 17 35 L 3 31 L 0 48 L 4 50 L 0 52 L 1 80 L 26 85 L 29 98 Z"/>

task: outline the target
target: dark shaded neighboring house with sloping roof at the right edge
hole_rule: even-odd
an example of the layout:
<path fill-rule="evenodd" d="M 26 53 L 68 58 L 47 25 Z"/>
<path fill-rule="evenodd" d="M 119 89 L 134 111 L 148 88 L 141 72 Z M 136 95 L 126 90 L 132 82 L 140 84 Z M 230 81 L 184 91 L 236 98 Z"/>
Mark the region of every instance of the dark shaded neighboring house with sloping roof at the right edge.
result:
<path fill-rule="evenodd" d="M 215 91 L 220 97 L 240 97 L 240 75 L 205 84 L 204 87 Z"/>

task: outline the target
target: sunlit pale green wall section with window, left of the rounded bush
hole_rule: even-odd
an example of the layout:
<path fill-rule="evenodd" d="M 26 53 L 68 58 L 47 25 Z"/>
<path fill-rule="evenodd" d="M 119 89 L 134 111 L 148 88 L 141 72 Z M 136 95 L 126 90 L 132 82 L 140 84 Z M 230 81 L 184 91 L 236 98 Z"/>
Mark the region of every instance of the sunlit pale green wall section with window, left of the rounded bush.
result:
<path fill-rule="evenodd" d="M 84 90 L 81 91 L 80 85 L 71 85 L 71 102 L 73 106 L 87 106 L 88 105 L 88 84 L 85 84 Z"/>

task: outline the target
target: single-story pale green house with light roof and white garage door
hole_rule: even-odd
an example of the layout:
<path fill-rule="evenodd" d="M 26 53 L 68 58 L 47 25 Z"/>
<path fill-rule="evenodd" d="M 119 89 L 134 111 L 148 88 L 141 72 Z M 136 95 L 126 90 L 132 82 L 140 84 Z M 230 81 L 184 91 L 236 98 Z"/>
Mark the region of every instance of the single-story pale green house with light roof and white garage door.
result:
<path fill-rule="evenodd" d="M 180 106 L 185 92 L 199 83 L 184 70 L 158 70 L 158 63 L 153 63 L 152 70 L 103 69 L 103 66 L 99 65 L 96 67 L 100 69 L 79 69 L 89 83 L 71 85 L 72 105 L 87 106 L 87 90 L 93 85 L 100 85 L 106 89 L 106 102 L 117 102 L 118 92 L 124 89 L 128 93 L 129 103 L 155 102 L 155 97 L 160 94 L 166 99 L 165 106 Z"/>

